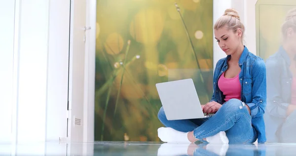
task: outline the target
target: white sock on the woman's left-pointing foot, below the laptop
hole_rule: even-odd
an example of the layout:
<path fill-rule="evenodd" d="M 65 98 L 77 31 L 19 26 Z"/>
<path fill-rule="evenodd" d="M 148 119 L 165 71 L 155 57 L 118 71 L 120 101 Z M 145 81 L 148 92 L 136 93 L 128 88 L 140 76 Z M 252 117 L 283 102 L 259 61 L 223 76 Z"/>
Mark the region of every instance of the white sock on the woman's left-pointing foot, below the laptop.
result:
<path fill-rule="evenodd" d="M 186 143 L 190 144 L 187 133 L 177 131 L 170 127 L 160 127 L 157 129 L 158 137 L 163 142 L 168 143 Z"/>

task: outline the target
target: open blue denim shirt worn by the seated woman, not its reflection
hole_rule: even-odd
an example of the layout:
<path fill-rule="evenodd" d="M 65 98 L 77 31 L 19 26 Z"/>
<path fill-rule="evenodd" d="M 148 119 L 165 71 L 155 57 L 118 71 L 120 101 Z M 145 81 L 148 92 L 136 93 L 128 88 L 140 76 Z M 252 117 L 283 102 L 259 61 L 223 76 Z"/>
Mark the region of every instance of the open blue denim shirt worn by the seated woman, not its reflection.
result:
<path fill-rule="evenodd" d="M 214 93 L 211 101 L 223 104 L 224 95 L 218 87 L 218 79 L 224 71 L 227 70 L 227 60 L 222 58 L 216 64 L 214 72 Z M 249 52 L 245 46 L 243 53 L 239 58 L 239 67 L 241 72 L 239 80 L 241 84 L 241 101 L 246 103 L 251 110 L 252 125 L 258 132 L 258 143 L 266 142 L 265 124 L 263 119 L 266 107 L 266 68 L 263 59 Z"/>

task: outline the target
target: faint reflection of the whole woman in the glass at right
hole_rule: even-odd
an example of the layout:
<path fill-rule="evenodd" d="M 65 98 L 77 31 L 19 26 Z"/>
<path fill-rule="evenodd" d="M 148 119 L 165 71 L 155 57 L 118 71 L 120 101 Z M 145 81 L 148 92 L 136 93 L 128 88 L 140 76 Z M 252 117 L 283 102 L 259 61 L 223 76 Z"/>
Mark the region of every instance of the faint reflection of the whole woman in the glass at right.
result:
<path fill-rule="evenodd" d="M 268 142 L 296 142 L 296 8 L 288 12 L 282 35 L 282 46 L 266 60 Z"/>

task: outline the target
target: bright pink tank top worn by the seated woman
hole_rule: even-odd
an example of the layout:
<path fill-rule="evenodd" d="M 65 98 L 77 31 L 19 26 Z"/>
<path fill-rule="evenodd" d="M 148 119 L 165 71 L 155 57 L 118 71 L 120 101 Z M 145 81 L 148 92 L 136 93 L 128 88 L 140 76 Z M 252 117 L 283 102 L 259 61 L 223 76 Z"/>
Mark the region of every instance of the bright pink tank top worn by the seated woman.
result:
<path fill-rule="evenodd" d="M 239 81 L 239 75 L 235 78 L 225 78 L 224 73 L 218 80 L 218 87 L 225 95 L 225 102 L 230 99 L 239 99 L 241 100 L 241 84 Z"/>

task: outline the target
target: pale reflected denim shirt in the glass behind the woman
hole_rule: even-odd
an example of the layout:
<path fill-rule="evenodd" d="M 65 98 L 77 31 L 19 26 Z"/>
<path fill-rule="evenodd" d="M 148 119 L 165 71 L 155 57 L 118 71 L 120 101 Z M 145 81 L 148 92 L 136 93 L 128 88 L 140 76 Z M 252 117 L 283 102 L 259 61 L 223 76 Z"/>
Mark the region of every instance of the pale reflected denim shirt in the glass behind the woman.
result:
<path fill-rule="evenodd" d="M 282 46 L 266 60 L 267 106 L 264 119 L 268 128 L 268 142 L 279 141 L 277 130 L 287 117 L 293 79 L 290 65 L 291 60 Z"/>

